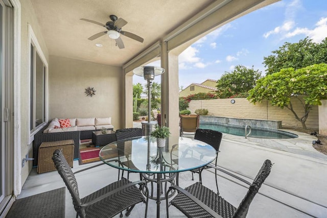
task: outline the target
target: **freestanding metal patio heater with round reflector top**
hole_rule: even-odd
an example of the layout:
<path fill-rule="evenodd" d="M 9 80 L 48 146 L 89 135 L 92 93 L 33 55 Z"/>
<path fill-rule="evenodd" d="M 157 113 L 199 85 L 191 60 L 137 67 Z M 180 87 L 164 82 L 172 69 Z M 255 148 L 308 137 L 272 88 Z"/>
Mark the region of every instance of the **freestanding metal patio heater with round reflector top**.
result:
<path fill-rule="evenodd" d="M 137 76 L 143 77 L 148 82 L 148 121 L 142 122 L 143 135 L 150 135 L 153 126 L 157 124 L 155 121 L 151 121 L 151 88 L 152 80 L 155 76 L 161 75 L 165 72 L 164 68 L 157 66 L 140 66 L 133 69 L 133 73 Z"/>

